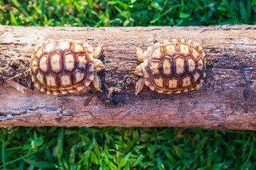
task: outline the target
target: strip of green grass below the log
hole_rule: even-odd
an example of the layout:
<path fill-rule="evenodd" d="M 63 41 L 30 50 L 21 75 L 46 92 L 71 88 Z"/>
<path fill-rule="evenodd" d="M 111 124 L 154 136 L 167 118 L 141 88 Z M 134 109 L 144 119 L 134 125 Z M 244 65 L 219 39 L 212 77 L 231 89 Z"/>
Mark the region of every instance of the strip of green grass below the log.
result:
<path fill-rule="evenodd" d="M 255 169 L 255 132 L 183 128 L 1 129 L 0 169 Z"/>

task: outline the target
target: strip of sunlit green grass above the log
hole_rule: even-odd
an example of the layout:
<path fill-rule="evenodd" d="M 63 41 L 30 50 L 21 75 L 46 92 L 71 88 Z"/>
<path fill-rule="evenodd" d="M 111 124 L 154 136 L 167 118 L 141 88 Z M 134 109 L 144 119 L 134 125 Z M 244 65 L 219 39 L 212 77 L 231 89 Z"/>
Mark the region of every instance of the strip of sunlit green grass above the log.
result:
<path fill-rule="evenodd" d="M 12 26 L 208 26 L 256 23 L 256 1 L 1 0 L 0 24 Z"/>

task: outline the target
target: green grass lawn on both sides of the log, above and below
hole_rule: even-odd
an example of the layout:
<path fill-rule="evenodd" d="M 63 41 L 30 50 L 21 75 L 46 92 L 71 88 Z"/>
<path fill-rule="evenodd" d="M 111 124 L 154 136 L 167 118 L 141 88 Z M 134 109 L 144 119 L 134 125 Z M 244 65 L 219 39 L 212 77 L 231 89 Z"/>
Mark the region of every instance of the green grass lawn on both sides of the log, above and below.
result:
<path fill-rule="evenodd" d="M 0 0 L 11 26 L 256 24 L 256 1 Z M 256 169 L 255 132 L 0 128 L 0 169 Z"/>

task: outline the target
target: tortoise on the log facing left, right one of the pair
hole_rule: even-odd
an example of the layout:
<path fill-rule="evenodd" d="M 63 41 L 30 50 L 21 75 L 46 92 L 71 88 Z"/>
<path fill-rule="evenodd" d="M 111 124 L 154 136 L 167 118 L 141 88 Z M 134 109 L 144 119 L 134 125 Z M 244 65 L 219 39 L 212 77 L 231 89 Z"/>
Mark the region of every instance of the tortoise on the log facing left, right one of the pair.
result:
<path fill-rule="evenodd" d="M 191 40 L 156 42 L 145 52 L 137 48 L 137 60 L 142 63 L 134 74 L 142 78 L 137 81 L 135 94 L 139 94 L 145 84 L 161 94 L 201 89 L 206 77 L 205 55 L 201 44 Z"/>

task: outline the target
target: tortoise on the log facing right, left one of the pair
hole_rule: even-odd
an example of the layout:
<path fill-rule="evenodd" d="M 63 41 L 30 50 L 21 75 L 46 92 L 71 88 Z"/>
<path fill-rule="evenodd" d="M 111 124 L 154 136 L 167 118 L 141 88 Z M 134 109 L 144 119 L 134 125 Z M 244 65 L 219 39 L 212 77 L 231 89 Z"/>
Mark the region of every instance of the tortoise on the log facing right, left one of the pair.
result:
<path fill-rule="evenodd" d="M 102 91 L 96 74 L 105 69 L 98 60 L 101 55 L 102 45 L 93 51 L 88 43 L 77 40 L 45 42 L 33 49 L 31 79 L 46 94 L 74 93 L 91 81 L 97 91 Z"/>

